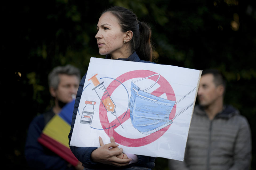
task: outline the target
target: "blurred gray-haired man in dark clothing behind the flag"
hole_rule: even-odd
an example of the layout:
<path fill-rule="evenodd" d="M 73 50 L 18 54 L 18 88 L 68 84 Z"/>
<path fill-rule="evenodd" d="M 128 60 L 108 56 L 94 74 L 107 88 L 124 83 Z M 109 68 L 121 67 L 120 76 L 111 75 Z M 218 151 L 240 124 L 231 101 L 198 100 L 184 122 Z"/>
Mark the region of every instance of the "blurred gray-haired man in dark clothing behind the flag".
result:
<path fill-rule="evenodd" d="M 79 70 L 71 65 L 55 67 L 48 76 L 49 90 L 54 106 L 31 122 L 25 145 L 25 157 L 31 169 L 83 169 L 79 162 L 73 167 L 67 161 L 38 142 L 42 130 L 62 107 L 75 98 L 80 81 Z"/>

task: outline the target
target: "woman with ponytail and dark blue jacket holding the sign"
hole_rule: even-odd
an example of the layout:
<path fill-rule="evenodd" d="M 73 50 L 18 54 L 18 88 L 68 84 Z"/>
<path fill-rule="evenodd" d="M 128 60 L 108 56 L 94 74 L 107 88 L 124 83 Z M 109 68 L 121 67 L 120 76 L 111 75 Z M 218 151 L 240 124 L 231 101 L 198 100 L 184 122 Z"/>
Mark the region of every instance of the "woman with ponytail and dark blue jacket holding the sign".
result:
<path fill-rule="evenodd" d="M 137 16 L 123 7 L 111 7 L 105 10 L 97 25 L 97 44 L 99 53 L 106 59 L 152 62 L 151 28 L 138 21 Z M 142 60 L 141 60 L 142 59 Z M 71 140 L 75 117 L 82 95 L 86 75 L 82 78 L 77 92 L 69 134 Z M 155 158 L 142 155 L 123 154 L 113 137 L 110 143 L 103 143 L 99 137 L 97 147 L 70 146 L 73 154 L 83 163 L 85 169 L 152 169 Z"/>

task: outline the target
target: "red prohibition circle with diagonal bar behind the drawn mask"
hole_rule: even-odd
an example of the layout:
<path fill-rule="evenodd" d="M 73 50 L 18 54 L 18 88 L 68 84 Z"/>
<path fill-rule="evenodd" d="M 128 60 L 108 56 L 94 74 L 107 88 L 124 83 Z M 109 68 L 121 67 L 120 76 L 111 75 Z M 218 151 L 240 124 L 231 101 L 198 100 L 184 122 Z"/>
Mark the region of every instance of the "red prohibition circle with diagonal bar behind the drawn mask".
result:
<path fill-rule="evenodd" d="M 109 93 L 109 95 L 111 96 L 112 93 L 114 92 L 114 90 L 120 85 L 120 82 L 123 83 L 123 82 L 125 82 L 127 80 L 130 80 L 130 79 L 133 79 L 133 78 L 144 78 L 144 77 L 148 77 L 148 76 L 153 75 L 153 74 L 158 74 L 158 73 L 155 73 L 155 72 L 149 71 L 149 70 L 129 71 L 129 72 L 124 73 L 124 74 L 122 74 L 122 75 L 120 75 L 119 77 L 116 78 L 116 80 L 118 80 L 119 82 L 116 81 L 116 80 L 113 80 L 109 84 L 109 86 L 106 88 L 106 90 Z M 149 77 L 149 79 L 156 81 L 157 76 Z M 173 88 L 171 87 L 170 83 L 165 78 L 160 76 L 157 83 L 160 85 L 160 87 L 157 88 L 155 91 L 153 91 L 151 93 L 152 95 L 155 95 L 155 96 L 159 97 L 163 93 L 165 93 L 168 100 L 176 101 L 176 97 L 175 97 Z M 105 98 L 106 98 L 105 96 L 102 96 L 101 100 L 103 101 Z M 176 104 L 174 105 L 172 111 L 170 112 L 170 115 L 169 115 L 170 120 L 175 117 L 175 113 L 176 113 Z M 118 120 L 122 124 L 123 122 L 125 122 L 129 118 L 130 118 L 130 109 L 128 109 L 126 114 L 123 113 L 122 115 L 120 115 L 118 117 Z M 167 129 L 170 127 L 170 125 L 168 125 L 165 128 L 162 128 L 162 129 L 160 129 L 160 130 L 158 130 L 154 133 L 151 133 L 150 135 L 148 135 L 146 137 L 142 137 L 142 138 L 131 139 L 131 138 L 123 137 L 122 135 L 119 135 L 114 130 L 115 128 L 120 126 L 118 120 L 115 119 L 114 121 L 109 122 L 109 120 L 107 118 L 107 111 L 106 111 L 104 105 L 102 104 L 102 102 L 99 105 L 99 119 L 100 119 L 102 128 L 104 129 L 105 133 L 109 137 L 113 136 L 115 138 L 115 142 L 117 142 L 117 143 L 119 143 L 123 146 L 128 146 L 128 147 L 139 147 L 139 146 L 144 146 L 144 145 L 147 145 L 149 143 L 152 143 L 155 140 L 157 140 L 158 138 L 160 138 L 167 131 Z M 110 128 L 110 127 L 112 127 L 112 128 Z"/>

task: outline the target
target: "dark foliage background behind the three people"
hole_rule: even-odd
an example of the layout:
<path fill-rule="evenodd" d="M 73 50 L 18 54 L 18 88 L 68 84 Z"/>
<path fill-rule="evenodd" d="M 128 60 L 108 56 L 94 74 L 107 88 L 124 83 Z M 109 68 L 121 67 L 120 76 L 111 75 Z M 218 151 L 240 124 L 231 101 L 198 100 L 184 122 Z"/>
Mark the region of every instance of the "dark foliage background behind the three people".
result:
<path fill-rule="evenodd" d="M 150 24 L 158 64 L 220 70 L 228 84 L 225 103 L 248 119 L 255 143 L 256 1 L 11 1 L 1 3 L 0 79 L 1 154 L 9 169 L 27 168 L 27 128 L 53 104 L 47 84 L 53 67 L 72 64 L 83 75 L 90 57 L 105 57 L 95 34 L 109 6 L 133 9 Z M 256 169 L 254 145 L 252 155 Z M 167 159 L 155 163 L 154 170 L 167 169 Z"/>

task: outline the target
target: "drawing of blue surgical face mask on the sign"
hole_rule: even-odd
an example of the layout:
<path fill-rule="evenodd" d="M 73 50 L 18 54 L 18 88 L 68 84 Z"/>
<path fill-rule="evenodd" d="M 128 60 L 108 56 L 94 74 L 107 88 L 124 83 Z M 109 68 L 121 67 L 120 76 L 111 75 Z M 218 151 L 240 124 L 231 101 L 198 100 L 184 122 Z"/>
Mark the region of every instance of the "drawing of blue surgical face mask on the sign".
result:
<path fill-rule="evenodd" d="M 151 76 L 155 75 L 159 76 L 158 79 L 160 78 L 159 74 Z M 157 81 L 149 88 L 140 90 L 134 84 L 140 80 L 131 82 L 131 97 L 129 101 L 131 123 L 139 132 L 151 134 L 172 124 L 173 121 L 169 120 L 169 114 L 173 109 L 175 101 L 166 100 L 145 92 L 153 87 Z"/>

